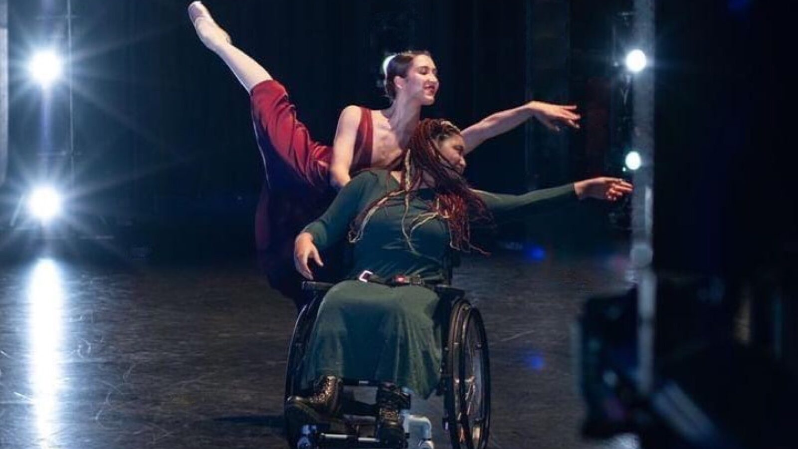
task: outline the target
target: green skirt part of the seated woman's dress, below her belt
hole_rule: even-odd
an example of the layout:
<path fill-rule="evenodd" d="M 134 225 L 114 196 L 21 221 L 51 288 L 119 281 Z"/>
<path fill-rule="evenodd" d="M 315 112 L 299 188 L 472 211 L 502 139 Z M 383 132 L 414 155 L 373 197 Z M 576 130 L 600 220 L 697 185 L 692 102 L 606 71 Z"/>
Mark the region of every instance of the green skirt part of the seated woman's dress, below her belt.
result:
<path fill-rule="evenodd" d="M 447 313 L 429 288 L 345 280 L 327 292 L 303 360 L 302 383 L 322 375 L 390 381 L 429 397 L 440 378 Z"/>

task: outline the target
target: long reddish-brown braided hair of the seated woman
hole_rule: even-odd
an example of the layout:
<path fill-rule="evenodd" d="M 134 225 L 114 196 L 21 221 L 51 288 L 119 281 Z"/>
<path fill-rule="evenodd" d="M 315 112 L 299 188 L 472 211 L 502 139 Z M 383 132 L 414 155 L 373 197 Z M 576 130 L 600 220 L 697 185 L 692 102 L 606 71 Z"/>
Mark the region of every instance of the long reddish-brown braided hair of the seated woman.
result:
<path fill-rule="evenodd" d="M 449 121 L 439 119 L 421 121 L 404 153 L 404 170 L 401 173 L 399 187 L 374 201 L 355 218 L 350 228 L 350 243 L 361 239 L 365 225 L 377 209 L 392 198 L 401 197 L 405 202 L 401 228 L 411 251 L 417 252 L 410 238 L 413 231 L 427 221 L 440 217 L 448 224 L 450 247 L 457 251 L 469 252 L 473 249 L 485 254 L 486 252 L 471 243 L 471 224 L 492 223 L 491 213 L 484 201 L 468 187 L 464 177 L 457 173 L 455 167 L 438 152 L 440 144 L 445 139 L 459 134 L 460 129 Z M 433 184 L 430 187 L 433 187 L 435 192 L 430 205 L 431 210 L 429 213 L 413 217 L 413 221 L 408 225 L 406 221 L 410 201 L 417 197 L 417 189 L 425 184 Z"/>

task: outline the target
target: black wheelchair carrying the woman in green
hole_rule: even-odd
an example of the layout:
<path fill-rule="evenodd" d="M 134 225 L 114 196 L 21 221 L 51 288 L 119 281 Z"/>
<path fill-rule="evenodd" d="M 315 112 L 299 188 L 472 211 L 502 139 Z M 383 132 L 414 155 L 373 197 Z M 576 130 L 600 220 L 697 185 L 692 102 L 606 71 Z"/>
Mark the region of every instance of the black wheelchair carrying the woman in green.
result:
<path fill-rule="evenodd" d="M 307 340 L 314 327 L 322 298 L 333 284 L 304 282 L 302 290 L 310 302 L 299 312 L 291 336 L 286 367 L 285 397 L 307 396 L 312 391 L 302 389 L 302 359 Z M 444 396 L 443 427 L 448 431 L 453 449 L 484 449 L 490 430 L 490 367 L 488 342 L 480 312 L 468 303 L 464 291 L 448 285 L 435 285 L 441 305 L 448 312 L 448 323 L 443 323 L 443 352 L 440 381 L 436 395 Z M 444 320 L 446 321 L 446 320 Z M 377 387 L 374 379 L 342 379 L 345 387 Z M 304 426 L 301 435 L 287 432 L 292 449 L 321 447 L 385 448 L 409 447 L 408 440 L 418 440 L 413 449 L 433 449 L 429 419 L 409 415 L 402 411 L 405 441 L 399 447 L 389 446 L 375 438 L 373 416 L 345 415 L 345 430 L 339 426 Z"/>

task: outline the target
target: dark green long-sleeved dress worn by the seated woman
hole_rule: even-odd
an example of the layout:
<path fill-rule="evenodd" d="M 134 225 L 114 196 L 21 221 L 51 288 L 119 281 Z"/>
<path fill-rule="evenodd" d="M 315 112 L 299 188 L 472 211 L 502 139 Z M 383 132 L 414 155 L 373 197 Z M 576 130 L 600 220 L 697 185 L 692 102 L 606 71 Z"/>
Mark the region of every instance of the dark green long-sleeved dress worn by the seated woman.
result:
<path fill-rule="evenodd" d="M 347 184 L 326 213 L 306 226 L 319 250 L 346 238 L 361 211 L 398 187 L 385 170 L 360 173 Z M 497 221 L 544 212 L 576 202 L 574 186 L 563 185 L 523 195 L 476 193 Z M 442 280 L 447 269 L 448 226 L 444 220 L 424 220 L 434 199 L 421 189 L 405 213 L 404 197 L 377 209 L 354 244 L 350 280 L 327 292 L 318 311 L 303 360 L 302 383 L 321 375 L 391 381 L 428 397 L 438 382 L 441 329 L 437 295 L 419 286 L 387 287 L 355 280 L 364 270 L 377 276 L 417 275 Z M 421 216 L 421 217 L 420 217 Z M 409 234 L 410 248 L 405 232 Z M 412 232 L 411 232 L 412 229 Z"/>

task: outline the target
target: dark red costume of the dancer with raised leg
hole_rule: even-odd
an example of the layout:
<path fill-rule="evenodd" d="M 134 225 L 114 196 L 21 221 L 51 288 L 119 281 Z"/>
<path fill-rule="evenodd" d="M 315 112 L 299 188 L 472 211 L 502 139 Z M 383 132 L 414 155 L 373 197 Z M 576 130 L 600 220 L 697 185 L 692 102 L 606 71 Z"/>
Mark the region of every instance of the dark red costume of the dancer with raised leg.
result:
<path fill-rule="evenodd" d="M 294 238 L 322 215 L 335 195 L 329 179 L 333 149 L 310 137 L 278 81 L 255 85 L 250 97 L 252 124 L 266 169 L 255 213 L 255 245 L 271 286 L 299 305 L 304 300 L 299 289 L 302 276 L 293 263 Z M 361 108 L 351 173 L 371 165 L 372 143 L 371 109 Z M 332 265 L 326 264 L 328 271 L 339 268 Z M 325 274 L 337 273 L 320 272 L 319 277 Z"/>

